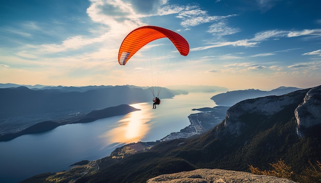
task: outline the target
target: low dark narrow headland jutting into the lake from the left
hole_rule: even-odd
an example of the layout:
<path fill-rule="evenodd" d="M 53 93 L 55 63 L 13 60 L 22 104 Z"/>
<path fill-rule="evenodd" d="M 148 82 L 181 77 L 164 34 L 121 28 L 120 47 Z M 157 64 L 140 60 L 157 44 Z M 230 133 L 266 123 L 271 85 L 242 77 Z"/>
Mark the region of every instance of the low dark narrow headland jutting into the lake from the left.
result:
<path fill-rule="evenodd" d="M 66 121 L 62 122 L 52 122 L 52 121 L 44 121 L 41 123 L 36 123 L 22 131 L 16 132 L 16 133 L 8 133 L 4 135 L 0 135 L 0 142 L 2 141 L 10 141 L 12 139 L 17 138 L 18 136 L 25 135 L 25 134 L 31 134 L 31 133 L 42 133 L 45 131 L 52 130 L 58 126 L 66 125 L 66 124 L 73 124 L 73 123 L 89 123 L 93 122 L 98 119 L 103 118 L 109 118 L 113 116 L 120 116 L 120 115 L 126 115 L 129 112 L 133 112 L 136 109 L 130 105 L 122 104 L 114 107 L 108 107 L 106 109 L 102 110 L 94 110 L 89 112 L 87 115 L 81 115 L 77 117 L 73 117 L 70 119 L 67 119 Z"/>

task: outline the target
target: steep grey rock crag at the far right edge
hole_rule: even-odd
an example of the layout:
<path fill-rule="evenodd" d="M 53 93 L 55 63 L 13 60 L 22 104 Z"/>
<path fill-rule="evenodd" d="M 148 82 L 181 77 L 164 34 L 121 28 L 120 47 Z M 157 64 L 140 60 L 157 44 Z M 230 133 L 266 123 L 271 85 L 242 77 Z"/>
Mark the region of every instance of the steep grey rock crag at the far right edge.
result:
<path fill-rule="evenodd" d="M 311 88 L 302 104 L 294 111 L 297 121 L 297 134 L 302 136 L 301 129 L 321 124 L 321 85 Z"/>

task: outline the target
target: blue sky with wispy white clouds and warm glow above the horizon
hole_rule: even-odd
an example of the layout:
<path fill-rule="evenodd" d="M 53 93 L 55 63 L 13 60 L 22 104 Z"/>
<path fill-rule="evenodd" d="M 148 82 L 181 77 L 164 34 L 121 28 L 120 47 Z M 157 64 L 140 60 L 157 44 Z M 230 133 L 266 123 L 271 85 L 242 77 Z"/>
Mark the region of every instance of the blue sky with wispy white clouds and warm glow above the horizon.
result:
<path fill-rule="evenodd" d="M 318 86 L 320 8 L 319 0 L 4 0 L 0 83 L 150 86 L 154 80 L 145 78 L 157 72 L 166 73 L 164 86 Z M 146 25 L 182 35 L 189 54 L 180 55 L 163 38 L 119 65 L 126 35 Z M 167 66 L 135 65 L 147 57 Z"/>

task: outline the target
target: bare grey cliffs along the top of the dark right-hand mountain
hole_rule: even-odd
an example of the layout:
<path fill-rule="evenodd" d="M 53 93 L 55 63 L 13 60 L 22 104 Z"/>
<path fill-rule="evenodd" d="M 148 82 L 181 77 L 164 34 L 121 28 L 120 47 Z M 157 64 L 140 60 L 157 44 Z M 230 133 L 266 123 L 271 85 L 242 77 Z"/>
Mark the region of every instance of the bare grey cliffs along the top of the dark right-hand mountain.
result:
<path fill-rule="evenodd" d="M 268 119 L 285 108 L 294 106 L 293 113 L 297 119 L 298 129 L 321 124 L 321 86 L 297 90 L 282 96 L 268 96 L 248 99 L 235 104 L 227 111 L 224 128 L 219 134 L 239 136 L 247 128 L 246 115 L 260 116 Z M 300 131 L 297 130 L 298 134 Z"/>

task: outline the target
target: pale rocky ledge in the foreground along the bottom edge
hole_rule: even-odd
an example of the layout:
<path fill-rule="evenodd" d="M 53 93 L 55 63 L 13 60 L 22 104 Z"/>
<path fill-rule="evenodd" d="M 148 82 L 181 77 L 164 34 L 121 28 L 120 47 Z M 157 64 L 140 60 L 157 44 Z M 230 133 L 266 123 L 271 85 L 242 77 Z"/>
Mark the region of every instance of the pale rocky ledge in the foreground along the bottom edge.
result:
<path fill-rule="evenodd" d="M 173 174 L 159 175 L 157 177 L 147 180 L 147 183 L 184 183 L 184 182 L 216 182 L 216 183 L 228 183 L 228 182 L 270 182 L 270 183 L 285 183 L 294 181 L 286 178 L 277 178 L 267 175 L 256 175 L 249 172 L 239 172 L 231 170 L 221 169 L 197 169 L 189 172 L 180 172 Z"/>

